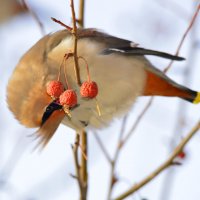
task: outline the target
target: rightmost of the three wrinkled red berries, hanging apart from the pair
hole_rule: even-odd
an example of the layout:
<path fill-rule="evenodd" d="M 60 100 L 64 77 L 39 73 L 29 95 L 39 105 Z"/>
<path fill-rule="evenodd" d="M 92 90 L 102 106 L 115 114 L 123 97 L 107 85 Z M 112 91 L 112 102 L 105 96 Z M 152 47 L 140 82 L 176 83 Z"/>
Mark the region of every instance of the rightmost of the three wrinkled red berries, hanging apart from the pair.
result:
<path fill-rule="evenodd" d="M 98 86 L 96 82 L 85 81 L 80 88 L 80 93 L 82 97 L 94 98 L 98 94 Z"/>

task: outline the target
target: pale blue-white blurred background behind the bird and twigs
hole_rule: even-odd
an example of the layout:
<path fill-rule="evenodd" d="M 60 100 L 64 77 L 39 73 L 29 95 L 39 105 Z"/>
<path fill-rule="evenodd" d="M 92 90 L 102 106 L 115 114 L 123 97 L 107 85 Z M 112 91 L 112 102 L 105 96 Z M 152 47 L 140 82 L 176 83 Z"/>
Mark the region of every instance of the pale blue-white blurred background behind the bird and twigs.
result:
<path fill-rule="evenodd" d="M 174 54 L 200 1 L 195 0 L 86 0 L 85 27 L 139 43 L 142 47 Z M 62 29 L 55 17 L 71 23 L 69 1 L 27 0 L 44 25 L 46 34 Z M 78 9 L 78 0 L 75 0 Z M 61 125 L 42 151 L 33 151 L 26 129 L 16 121 L 6 104 L 6 85 L 21 56 L 42 37 L 40 28 L 20 1 L 0 0 L 0 200 L 76 200 L 78 187 L 71 178 L 74 162 L 71 144 L 74 131 Z M 187 36 L 168 75 L 179 83 L 200 90 L 200 17 Z M 169 61 L 148 57 L 163 70 Z M 127 132 L 149 101 L 137 100 L 127 117 Z M 199 120 L 200 106 L 176 98 L 156 97 L 143 120 L 121 150 L 116 166 L 119 182 L 113 197 L 139 182 L 163 163 L 173 147 Z M 113 157 L 123 119 L 96 134 Z M 89 200 L 104 200 L 108 193 L 110 165 L 95 140 L 89 136 Z M 182 165 L 170 167 L 127 200 L 199 200 L 200 135 L 184 149 Z"/>

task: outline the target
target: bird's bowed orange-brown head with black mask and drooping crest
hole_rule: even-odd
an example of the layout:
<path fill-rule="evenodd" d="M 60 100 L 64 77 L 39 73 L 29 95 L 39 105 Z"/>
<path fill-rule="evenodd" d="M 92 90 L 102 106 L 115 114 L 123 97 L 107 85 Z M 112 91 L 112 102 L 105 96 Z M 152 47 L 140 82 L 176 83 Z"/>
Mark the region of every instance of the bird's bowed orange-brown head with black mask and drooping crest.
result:
<path fill-rule="evenodd" d="M 40 82 L 23 83 L 19 76 L 20 70 L 15 70 L 8 83 L 7 102 L 15 117 L 26 127 L 39 127 L 36 134 L 40 144 L 45 146 L 61 121 L 65 117 L 62 106 L 52 101 L 46 93 L 46 87 Z"/>

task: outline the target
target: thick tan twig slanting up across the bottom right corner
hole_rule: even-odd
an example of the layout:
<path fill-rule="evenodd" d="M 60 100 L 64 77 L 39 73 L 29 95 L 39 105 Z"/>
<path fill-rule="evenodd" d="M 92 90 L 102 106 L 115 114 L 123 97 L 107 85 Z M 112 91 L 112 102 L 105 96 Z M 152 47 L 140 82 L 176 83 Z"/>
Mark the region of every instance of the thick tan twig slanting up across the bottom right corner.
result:
<path fill-rule="evenodd" d="M 146 178 L 144 178 L 139 183 L 133 185 L 126 192 L 119 195 L 114 200 L 122 200 L 126 198 L 127 196 L 133 194 L 134 192 L 139 190 L 141 187 L 149 183 L 152 179 L 154 179 L 157 175 L 159 175 L 163 170 L 173 165 L 174 159 L 178 156 L 180 152 L 182 152 L 185 145 L 190 141 L 190 139 L 195 135 L 195 133 L 197 133 L 199 129 L 200 129 L 200 121 L 198 121 L 198 123 L 192 128 L 192 130 L 188 133 L 188 135 L 182 139 L 179 145 L 174 149 L 174 152 L 171 154 L 171 156 L 162 165 L 160 165 L 160 167 L 158 167 L 155 171 L 150 173 Z"/>

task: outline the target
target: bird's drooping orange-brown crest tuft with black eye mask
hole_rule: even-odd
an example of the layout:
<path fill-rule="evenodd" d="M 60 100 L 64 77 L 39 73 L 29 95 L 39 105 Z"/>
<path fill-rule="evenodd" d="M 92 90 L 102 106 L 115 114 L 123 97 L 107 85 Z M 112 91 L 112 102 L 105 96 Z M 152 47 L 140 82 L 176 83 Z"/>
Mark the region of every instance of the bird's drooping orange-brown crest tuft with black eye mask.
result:
<path fill-rule="evenodd" d="M 61 105 L 52 102 L 47 106 L 42 117 L 41 126 L 35 133 L 40 139 L 38 146 L 42 145 L 44 148 L 47 145 L 64 117 L 65 112 L 62 110 Z"/>

